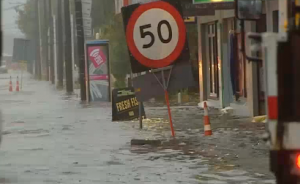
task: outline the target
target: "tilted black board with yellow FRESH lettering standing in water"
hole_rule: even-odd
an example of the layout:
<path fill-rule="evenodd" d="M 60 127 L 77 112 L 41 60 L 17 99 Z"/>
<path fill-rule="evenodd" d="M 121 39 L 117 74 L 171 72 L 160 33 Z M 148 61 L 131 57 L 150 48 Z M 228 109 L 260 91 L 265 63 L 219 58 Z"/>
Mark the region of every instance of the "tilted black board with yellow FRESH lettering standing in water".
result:
<path fill-rule="evenodd" d="M 142 116 L 145 117 L 144 107 Z M 112 120 L 132 120 L 139 117 L 139 102 L 133 88 L 114 89 L 112 91 Z"/>

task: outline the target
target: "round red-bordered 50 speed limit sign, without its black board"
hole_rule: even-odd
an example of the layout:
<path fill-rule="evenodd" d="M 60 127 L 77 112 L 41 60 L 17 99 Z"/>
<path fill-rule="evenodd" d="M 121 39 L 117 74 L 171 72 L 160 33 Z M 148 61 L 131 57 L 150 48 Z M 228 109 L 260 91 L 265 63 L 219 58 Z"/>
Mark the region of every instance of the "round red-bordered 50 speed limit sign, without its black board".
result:
<path fill-rule="evenodd" d="M 143 4 L 135 9 L 126 30 L 131 54 L 149 68 L 172 64 L 185 46 L 184 20 L 174 6 L 164 1 Z"/>

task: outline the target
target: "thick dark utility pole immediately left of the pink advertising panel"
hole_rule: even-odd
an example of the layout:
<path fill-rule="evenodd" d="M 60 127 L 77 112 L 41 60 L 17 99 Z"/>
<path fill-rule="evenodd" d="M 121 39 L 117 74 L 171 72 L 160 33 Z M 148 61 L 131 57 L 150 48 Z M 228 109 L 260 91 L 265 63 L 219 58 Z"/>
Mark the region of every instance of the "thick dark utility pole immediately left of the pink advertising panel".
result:
<path fill-rule="evenodd" d="M 75 0 L 75 19 L 77 30 L 77 49 L 79 61 L 79 81 L 80 81 L 80 95 L 81 101 L 86 101 L 86 83 L 85 83 L 85 56 L 84 56 L 84 31 L 82 19 L 82 2 Z"/>

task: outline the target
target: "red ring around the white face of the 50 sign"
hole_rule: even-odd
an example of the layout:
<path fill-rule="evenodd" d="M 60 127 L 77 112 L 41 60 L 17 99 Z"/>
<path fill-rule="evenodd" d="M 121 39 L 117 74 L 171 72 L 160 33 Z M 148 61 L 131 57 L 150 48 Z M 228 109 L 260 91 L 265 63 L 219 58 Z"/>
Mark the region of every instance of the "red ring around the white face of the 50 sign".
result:
<path fill-rule="evenodd" d="M 147 10 L 153 8 L 159 8 L 169 12 L 174 17 L 178 26 L 179 38 L 178 38 L 177 46 L 169 56 L 160 60 L 153 60 L 153 59 L 146 58 L 137 49 L 133 39 L 134 26 L 138 18 Z M 180 56 L 186 41 L 186 28 L 182 16 L 174 6 L 164 1 L 152 2 L 152 3 L 147 3 L 139 6 L 132 13 L 126 28 L 126 40 L 130 52 L 142 65 L 147 66 L 149 68 L 162 68 L 172 64 Z"/>

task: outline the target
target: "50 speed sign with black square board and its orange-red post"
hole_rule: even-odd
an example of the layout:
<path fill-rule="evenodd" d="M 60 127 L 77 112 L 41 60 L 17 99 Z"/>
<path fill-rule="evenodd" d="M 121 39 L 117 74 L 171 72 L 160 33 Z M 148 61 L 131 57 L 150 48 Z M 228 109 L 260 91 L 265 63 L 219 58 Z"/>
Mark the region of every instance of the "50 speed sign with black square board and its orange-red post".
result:
<path fill-rule="evenodd" d="M 159 83 L 159 90 L 156 91 L 152 88 L 153 84 L 150 84 L 150 81 L 143 80 L 142 83 L 147 85 L 147 90 L 136 88 L 136 93 L 145 94 L 149 88 L 152 88 L 152 92 L 156 91 L 159 95 L 165 96 L 172 136 L 175 137 L 168 94 L 169 80 L 173 69 L 171 65 L 189 60 L 182 5 L 179 1 L 170 0 L 133 4 L 122 8 L 122 17 L 132 72 L 151 71 L 155 77 L 149 73 L 138 76 L 136 79 L 154 78 L 154 83 L 156 81 Z M 170 70 L 167 80 L 166 70 Z M 159 79 L 160 76 L 155 73 L 161 74 L 162 79 Z M 174 77 L 174 80 L 177 77 Z M 151 94 L 146 96 L 154 97 Z M 143 98 L 146 99 L 145 96 Z M 141 123 L 140 127 L 142 127 Z"/>

